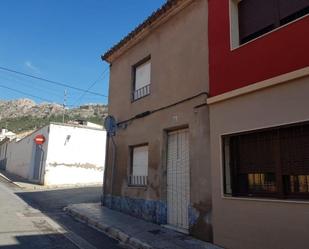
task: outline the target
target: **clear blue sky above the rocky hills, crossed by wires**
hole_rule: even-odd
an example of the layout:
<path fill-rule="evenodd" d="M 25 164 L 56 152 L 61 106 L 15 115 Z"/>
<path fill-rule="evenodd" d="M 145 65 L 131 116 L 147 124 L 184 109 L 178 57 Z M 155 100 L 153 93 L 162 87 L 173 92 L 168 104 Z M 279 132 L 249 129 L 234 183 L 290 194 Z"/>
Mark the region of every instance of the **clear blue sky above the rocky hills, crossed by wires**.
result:
<path fill-rule="evenodd" d="M 0 67 L 108 94 L 100 55 L 165 0 L 1 0 Z M 103 74 L 103 72 L 105 73 Z M 0 86 L 63 102 L 65 88 L 0 70 Z M 107 98 L 67 89 L 67 104 Z M 0 100 L 31 98 L 0 87 Z"/>

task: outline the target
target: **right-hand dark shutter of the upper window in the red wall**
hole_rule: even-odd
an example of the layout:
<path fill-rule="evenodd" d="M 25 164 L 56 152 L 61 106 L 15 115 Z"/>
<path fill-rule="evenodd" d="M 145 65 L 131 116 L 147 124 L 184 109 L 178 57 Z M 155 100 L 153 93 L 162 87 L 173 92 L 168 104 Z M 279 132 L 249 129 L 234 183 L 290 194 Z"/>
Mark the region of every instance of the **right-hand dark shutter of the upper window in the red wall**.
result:
<path fill-rule="evenodd" d="M 287 18 L 299 11 L 309 8 L 309 0 L 279 0 L 280 19 Z"/>

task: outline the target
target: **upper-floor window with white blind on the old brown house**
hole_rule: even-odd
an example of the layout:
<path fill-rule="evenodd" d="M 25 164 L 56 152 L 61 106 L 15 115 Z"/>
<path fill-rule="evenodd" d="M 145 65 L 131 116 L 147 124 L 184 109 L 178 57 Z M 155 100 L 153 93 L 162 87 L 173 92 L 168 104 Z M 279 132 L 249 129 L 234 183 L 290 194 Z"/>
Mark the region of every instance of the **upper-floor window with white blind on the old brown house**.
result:
<path fill-rule="evenodd" d="M 150 57 L 145 58 L 144 60 L 133 66 L 133 100 L 140 99 L 150 94 L 150 75 Z"/>

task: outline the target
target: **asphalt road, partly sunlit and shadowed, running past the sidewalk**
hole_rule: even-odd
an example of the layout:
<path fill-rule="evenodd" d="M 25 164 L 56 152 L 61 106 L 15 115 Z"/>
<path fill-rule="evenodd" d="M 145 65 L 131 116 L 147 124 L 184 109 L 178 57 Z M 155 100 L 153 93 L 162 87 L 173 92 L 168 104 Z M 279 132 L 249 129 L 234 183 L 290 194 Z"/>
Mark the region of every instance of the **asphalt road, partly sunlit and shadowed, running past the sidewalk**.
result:
<path fill-rule="evenodd" d="M 0 249 L 123 249 L 62 210 L 100 194 L 99 187 L 23 191 L 0 179 Z"/>

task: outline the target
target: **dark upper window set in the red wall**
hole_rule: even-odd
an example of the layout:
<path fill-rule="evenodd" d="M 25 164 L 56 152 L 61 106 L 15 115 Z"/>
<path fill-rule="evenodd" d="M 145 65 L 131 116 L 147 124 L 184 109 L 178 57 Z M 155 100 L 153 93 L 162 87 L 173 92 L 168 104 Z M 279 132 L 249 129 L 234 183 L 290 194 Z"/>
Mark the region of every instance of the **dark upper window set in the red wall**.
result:
<path fill-rule="evenodd" d="M 238 2 L 240 44 L 309 13 L 309 0 L 241 0 Z"/>

